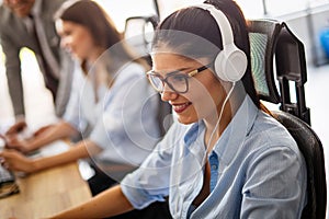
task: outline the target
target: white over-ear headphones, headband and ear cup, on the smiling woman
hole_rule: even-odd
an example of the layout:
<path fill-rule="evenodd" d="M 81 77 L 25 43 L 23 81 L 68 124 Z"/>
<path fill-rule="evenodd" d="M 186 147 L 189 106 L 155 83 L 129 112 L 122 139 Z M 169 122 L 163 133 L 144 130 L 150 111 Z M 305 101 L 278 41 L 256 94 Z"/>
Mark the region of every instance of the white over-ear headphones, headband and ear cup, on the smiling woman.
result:
<path fill-rule="evenodd" d="M 234 43 L 234 35 L 230 23 L 226 15 L 212 4 L 193 5 L 207 10 L 215 19 L 222 33 L 223 50 L 215 58 L 214 67 L 216 76 L 229 82 L 240 80 L 247 69 L 247 56 Z"/>

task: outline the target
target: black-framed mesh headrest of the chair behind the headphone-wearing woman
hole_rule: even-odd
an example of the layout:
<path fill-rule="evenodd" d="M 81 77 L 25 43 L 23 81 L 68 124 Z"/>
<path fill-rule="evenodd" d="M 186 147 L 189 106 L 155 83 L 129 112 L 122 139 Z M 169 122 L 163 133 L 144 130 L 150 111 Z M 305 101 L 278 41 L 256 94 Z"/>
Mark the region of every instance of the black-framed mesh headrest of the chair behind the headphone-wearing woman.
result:
<path fill-rule="evenodd" d="M 256 45 L 251 46 L 251 68 L 260 97 L 280 103 L 280 110 L 310 125 L 309 108 L 305 103 L 307 71 L 303 43 L 284 22 L 275 20 L 250 21 L 249 36 L 251 45 Z M 291 99 L 291 83 L 295 85 L 295 102 Z"/>

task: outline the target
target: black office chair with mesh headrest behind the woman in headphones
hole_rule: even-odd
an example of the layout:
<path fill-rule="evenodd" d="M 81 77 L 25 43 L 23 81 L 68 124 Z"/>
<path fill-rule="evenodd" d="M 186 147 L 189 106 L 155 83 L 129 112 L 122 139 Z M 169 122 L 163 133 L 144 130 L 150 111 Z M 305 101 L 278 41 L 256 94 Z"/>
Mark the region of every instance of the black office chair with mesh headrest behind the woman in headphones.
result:
<path fill-rule="evenodd" d="M 280 105 L 280 110 L 272 111 L 272 114 L 291 132 L 306 161 L 308 201 L 302 218 L 325 218 L 327 186 L 324 149 L 310 127 L 309 108 L 305 104 L 304 84 L 307 78 L 304 45 L 284 22 L 252 20 L 248 25 L 251 69 L 259 96 L 262 101 Z M 291 83 L 295 83 L 295 103 L 291 100 Z"/>

